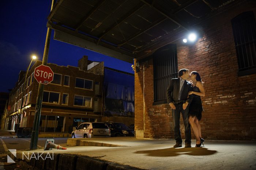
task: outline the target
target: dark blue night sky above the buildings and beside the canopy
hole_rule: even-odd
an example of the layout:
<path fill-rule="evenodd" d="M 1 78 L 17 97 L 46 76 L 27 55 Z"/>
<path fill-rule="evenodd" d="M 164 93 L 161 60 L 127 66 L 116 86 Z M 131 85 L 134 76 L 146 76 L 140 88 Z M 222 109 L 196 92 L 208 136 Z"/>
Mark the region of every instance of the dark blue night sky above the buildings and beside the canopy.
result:
<path fill-rule="evenodd" d="M 15 86 L 20 70 L 26 70 L 31 55 L 42 60 L 46 37 L 46 22 L 51 0 L 0 1 L 0 92 Z M 105 66 L 134 73 L 131 63 L 95 53 L 74 45 L 50 40 L 48 63 L 77 66 L 87 55 L 89 60 L 104 61 Z"/>

